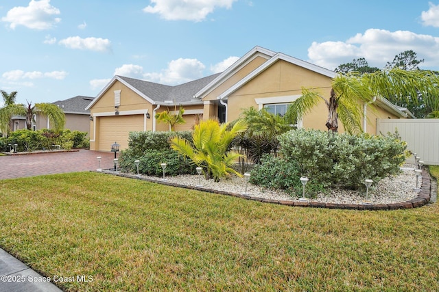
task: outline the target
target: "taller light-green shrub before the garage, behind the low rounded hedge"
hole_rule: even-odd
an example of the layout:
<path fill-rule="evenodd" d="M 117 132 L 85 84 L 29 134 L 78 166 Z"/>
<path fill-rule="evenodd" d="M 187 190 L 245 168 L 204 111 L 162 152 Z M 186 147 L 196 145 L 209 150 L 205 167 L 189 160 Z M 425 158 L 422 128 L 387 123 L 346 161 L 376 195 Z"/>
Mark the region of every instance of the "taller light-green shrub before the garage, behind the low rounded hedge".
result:
<path fill-rule="evenodd" d="M 146 150 L 165 150 L 169 149 L 169 140 L 171 137 L 182 137 L 192 141 L 191 131 L 178 132 L 130 132 L 128 146 L 133 155 L 141 157 Z"/>

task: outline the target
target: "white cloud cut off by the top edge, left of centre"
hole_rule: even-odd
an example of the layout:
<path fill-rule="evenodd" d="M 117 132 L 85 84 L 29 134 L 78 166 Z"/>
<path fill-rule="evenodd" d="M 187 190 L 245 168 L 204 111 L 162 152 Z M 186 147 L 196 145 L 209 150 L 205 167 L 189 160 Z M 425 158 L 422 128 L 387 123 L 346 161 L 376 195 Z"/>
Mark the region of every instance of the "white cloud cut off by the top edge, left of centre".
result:
<path fill-rule="evenodd" d="M 237 0 L 151 0 L 143 12 L 157 13 L 168 21 L 202 21 L 215 8 L 231 8 Z"/>

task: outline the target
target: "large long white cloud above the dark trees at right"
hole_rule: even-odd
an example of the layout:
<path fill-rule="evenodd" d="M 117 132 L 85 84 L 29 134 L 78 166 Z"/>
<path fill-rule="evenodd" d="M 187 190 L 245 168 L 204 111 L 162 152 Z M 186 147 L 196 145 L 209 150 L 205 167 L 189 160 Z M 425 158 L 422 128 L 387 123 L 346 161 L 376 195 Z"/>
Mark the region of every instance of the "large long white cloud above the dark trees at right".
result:
<path fill-rule="evenodd" d="M 406 50 L 413 50 L 418 59 L 425 59 L 421 67 L 439 66 L 439 38 L 383 29 L 368 29 L 346 42 L 313 42 L 308 57 L 309 62 L 331 70 L 359 57 L 364 57 L 369 66 L 383 68 L 395 55 Z"/>

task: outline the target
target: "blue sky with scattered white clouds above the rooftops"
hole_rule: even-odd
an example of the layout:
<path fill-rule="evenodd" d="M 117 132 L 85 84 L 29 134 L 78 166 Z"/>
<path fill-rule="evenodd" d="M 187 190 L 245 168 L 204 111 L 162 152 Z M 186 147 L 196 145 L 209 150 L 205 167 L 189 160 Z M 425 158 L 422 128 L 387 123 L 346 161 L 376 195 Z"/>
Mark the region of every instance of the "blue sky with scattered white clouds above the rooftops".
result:
<path fill-rule="evenodd" d="M 184 83 L 257 45 L 331 70 L 413 50 L 439 70 L 439 1 L 0 0 L 0 40 L 19 103 L 96 96 L 114 75 Z"/>

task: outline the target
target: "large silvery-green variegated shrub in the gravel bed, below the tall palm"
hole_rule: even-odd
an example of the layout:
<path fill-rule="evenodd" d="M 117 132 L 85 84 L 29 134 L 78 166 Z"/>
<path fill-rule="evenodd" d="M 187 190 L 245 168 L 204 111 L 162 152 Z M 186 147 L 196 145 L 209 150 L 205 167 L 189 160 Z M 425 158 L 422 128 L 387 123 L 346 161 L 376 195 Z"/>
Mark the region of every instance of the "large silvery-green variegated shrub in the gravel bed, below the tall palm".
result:
<path fill-rule="evenodd" d="M 348 135 L 303 129 L 279 137 L 287 161 L 302 175 L 325 186 L 358 188 L 364 179 L 398 174 L 407 145 L 397 135 Z"/>

